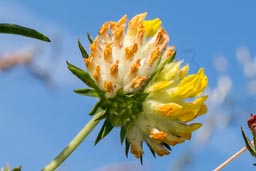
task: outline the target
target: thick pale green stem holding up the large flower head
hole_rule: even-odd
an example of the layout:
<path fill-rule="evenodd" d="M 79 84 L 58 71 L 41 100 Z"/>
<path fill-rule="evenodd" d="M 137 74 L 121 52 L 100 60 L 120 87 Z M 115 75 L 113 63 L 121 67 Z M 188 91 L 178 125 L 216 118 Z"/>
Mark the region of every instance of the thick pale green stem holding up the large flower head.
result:
<path fill-rule="evenodd" d="M 83 142 L 87 135 L 95 128 L 99 123 L 99 118 L 103 115 L 103 111 L 99 111 L 94 117 L 83 127 L 83 129 L 70 141 L 66 148 L 42 171 L 54 171 L 64 160 Z"/>

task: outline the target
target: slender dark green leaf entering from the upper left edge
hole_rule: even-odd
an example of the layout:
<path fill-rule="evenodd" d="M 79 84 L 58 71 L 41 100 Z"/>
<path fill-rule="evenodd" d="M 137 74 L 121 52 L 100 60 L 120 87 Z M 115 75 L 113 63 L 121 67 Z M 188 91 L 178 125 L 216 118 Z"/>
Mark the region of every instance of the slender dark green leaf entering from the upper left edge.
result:
<path fill-rule="evenodd" d="M 34 29 L 19 26 L 16 24 L 1 23 L 0 24 L 0 33 L 17 34 L 20 36 L 26 36 L 26 37 L 46 41 L 46 42 L 51 41 L 47 36 L 43 35 L 42 33 L 38 32 Z"/>

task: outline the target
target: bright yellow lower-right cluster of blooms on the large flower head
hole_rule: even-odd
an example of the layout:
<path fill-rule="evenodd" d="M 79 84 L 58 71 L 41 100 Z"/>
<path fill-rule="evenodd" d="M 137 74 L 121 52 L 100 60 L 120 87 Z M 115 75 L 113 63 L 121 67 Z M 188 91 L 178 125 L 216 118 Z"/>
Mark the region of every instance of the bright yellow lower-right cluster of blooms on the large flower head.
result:
<path fill-rule="evenodd" d="M 180 62 L 167 64 L 145 88 L 149 95 L 143 102 L 143 112 L 133 129 L 126 131 L 136 157 L 143 153 L 143 140 L 159 156 L 167 155 L 166 145 L 189 140 L 201 127 L 200 123 L 186 123 L 207 112 L 207 96 L 192 102 L 186 98 L 199 96 L 207 86 L 207 77 L 202 68 L 194 75 L 185 76 L 184 72 L 188 72 L 188 66 L 180 68 Z"/>

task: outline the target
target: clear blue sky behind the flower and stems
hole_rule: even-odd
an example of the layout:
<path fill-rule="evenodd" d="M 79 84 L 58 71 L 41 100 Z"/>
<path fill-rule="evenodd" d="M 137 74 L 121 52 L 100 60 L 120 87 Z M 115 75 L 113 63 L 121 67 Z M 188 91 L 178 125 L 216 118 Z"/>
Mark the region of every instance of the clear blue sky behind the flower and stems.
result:
<path fill-rule="evenodd" d="M 86 33 L 96 36 L 106 20 L 148 12 L 148 19 L 162 20 L 169 45 L 177 48 L 177 59 L 189 63 L 191 72 L 205 67 L 209 112 L 199 121 L 205 125 L 202 129 L 213 125 L 209 140 L 200 147 L 204 134 L 198 131 L 191 141 L 173 147 L 170 156 L 154 159 L 146 150 L 140 166 L 133 156 L 125 157 L 118 130 L 94 146 L 97 127 L 59 170 L 169 171 L 190 151 L 194 155 L 188 170 L 214 169 L 244 146 L 240 126 L 246 128 L 250 112 L 255 111 L 255 6 L 253 0 L 1 1 L 1 23 L 35 28 L 52 42 L 0 35 L 0 56 L 39 48 L 37 65 L 51 71 L 55 87 L 45 86 L 23 67 L 1 74 L 0 165 L 40 170 L 65 147 L 90 119 L 87 114 L 95 103 L 73 93 L 84 85 L 66 69 L 66 60 L 84 66 L 77 39 L 88 47 Z M 253 170 L 253 162 L 246 152 L 223 170 Z"/>

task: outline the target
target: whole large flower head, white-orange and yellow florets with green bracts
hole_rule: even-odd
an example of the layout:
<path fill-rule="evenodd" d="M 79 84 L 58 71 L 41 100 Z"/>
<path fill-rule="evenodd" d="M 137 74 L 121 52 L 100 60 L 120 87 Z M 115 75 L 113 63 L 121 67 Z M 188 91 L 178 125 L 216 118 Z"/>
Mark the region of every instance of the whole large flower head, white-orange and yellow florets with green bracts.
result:
<path fill-rule="evenodd" d="M 120 127 L 126 154 L 130 149 L 138 158 L 143 142 L 153 155 L 169 154 L 170 146 L 189 140 L 201 126 L 188 122 L 207 112 L 207 96 L 200 96 L 207 86 L 204 69 L 188 75 L 189 66 L 174 61 L 175 47 L 167 47 L 161 20 L 145 17 L 136 15 L 128 26 L 127 16 L 105 22 L 98 36 L 90 38 L 89 55 L 79 41 L 88 73 L 68 63 L 90 87 L 75 91 L 99 98 L 91 114 L 104 111 L 96 143 Z"/>

